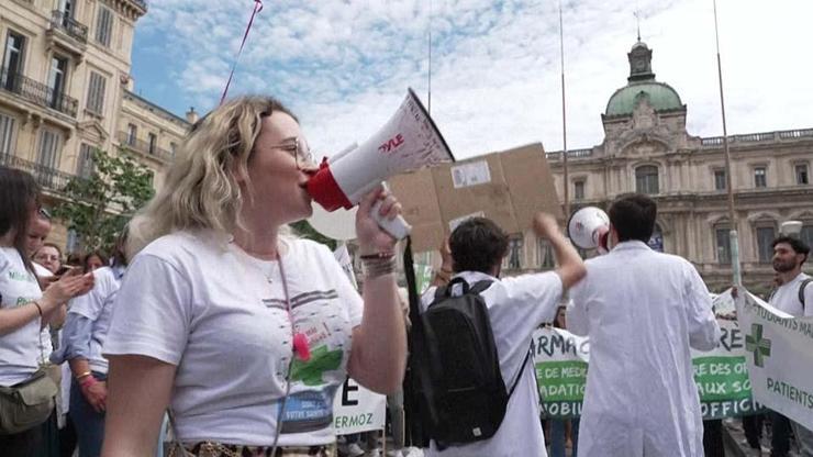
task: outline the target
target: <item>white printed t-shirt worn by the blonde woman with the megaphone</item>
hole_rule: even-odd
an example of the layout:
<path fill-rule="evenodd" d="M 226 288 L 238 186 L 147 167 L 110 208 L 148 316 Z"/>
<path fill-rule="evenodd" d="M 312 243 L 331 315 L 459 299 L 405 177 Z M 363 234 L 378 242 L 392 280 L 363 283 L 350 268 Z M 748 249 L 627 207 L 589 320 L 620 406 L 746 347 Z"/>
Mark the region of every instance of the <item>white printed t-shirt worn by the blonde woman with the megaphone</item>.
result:
<path fill-rule="evenodd" d="M 291 314 L 308 336 L 311 359 L 293 361 L 279 445 L 333 443 L 333 397 L 347 375 L 363 301 L 326 247 L 305 239 L 285 244 Z M 211 234 L 179 232 L 133 259 L 104 354 L 177 366 L 171 408 L 182 442 L 269 446 L 291 335 L 277 261 L 258 260 Z"/>

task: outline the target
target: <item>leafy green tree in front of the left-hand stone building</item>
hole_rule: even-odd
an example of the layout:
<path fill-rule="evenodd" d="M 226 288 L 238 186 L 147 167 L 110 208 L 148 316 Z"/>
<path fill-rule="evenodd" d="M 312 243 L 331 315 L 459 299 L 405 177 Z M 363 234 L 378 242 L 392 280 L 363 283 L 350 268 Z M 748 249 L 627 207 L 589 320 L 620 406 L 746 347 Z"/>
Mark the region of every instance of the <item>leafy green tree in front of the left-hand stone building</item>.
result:
<path fill-rule="evenodd" d="M 125 151 L 118 156 L 94 149 L 92 171 L 63 189 L 54 215 L 76 232 L 85 252 L 110 252 L 122 228 L 153 197 L 153 171 Z"/>

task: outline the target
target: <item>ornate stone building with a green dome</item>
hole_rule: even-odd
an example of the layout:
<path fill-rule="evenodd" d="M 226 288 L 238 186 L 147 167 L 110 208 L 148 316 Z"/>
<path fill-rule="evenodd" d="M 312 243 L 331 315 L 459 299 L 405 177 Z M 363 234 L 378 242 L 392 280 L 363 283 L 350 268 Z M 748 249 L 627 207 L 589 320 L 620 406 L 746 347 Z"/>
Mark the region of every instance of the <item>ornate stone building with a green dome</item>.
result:
<path fill-rule="evenodd" d="M 568 152 L 572 211 L 606 209 L 628 192 L 650 194 L 659 210 L 650 245 L 691 260 L 710 288 L 724 288 L 732 271 L 723 138 L 687 132 L 687 105 L 655 79 L 646 44 L 636 43 L 627 56 L 628 82 L 601 115 L 604 141 Z M 802 237 L 813 244 L 813 129 L 733 135 L 728 142 L 743 280 L 764 291 L 772 277 L 770 243 L 782 222 L 802 221 Z M 547 158 L 563 189 L 561 152 Z M 549 254 L 544 245 L 536 255 L 524 250 L 522 259 L 537 266 Z"/>

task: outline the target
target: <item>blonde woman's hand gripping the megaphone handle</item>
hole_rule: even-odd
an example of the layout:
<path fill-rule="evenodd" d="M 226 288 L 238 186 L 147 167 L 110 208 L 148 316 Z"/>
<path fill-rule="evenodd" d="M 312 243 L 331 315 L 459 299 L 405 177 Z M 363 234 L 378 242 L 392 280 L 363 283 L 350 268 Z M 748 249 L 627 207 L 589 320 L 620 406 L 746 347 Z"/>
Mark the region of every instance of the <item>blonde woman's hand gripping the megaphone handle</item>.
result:
<path fill-rule="evenodd" d="M 379 215 L 393 220 L 401 214 L 401 203 L 383 187 L 376 188 L 361 199 L 356 212 L 356 236 L 361 255 L 393 253 L 396 248 L 397 239 L 385 232 L 374 219 L 372 205 L 378 201 L 381 201 Z"/>

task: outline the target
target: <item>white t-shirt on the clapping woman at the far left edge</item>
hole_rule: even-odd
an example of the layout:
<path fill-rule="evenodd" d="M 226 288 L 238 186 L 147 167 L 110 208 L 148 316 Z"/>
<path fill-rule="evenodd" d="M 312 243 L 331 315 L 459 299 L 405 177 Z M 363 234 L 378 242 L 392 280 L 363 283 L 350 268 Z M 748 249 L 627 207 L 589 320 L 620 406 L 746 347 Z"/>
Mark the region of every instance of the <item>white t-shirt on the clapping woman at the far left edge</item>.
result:
<path fill-rule="evenodd" d="M 22 306 L 43 296 L 36 277 L 25 269 L 20 253 L 0 247 L 0 306 Z M 26 380 L 38 368 L 42 320 L 34 319 L 22 327 L 0 336 L 0 386 L 14 386 Z M 51 336 L 47 338 L 51 341 Z"/>

